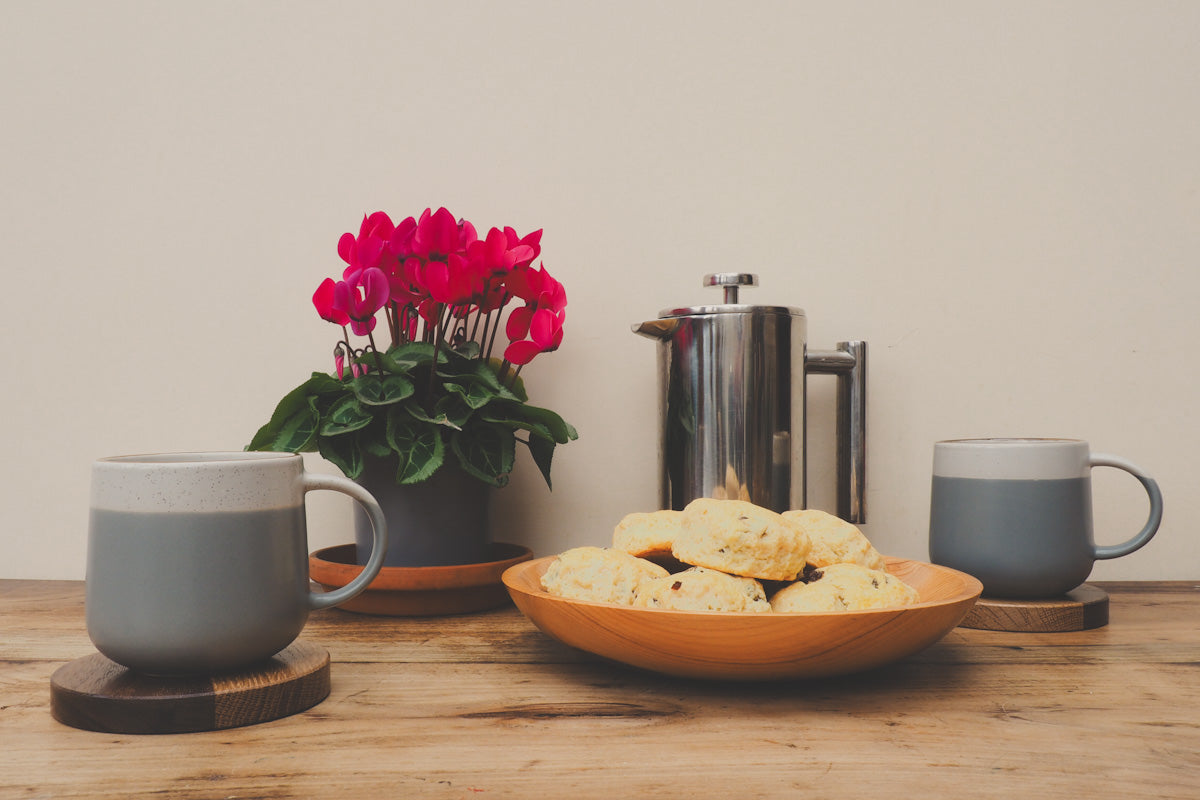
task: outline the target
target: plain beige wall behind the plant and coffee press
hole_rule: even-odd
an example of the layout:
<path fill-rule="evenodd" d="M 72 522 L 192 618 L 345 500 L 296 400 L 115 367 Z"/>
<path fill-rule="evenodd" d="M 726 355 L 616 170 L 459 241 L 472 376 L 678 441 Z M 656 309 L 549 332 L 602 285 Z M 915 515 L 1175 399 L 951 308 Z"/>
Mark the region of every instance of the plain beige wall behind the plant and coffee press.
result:
<path fill-rule="evenodd" d="M 1093 577 L 1200 578 L 1198 42 L 1200 5 L 1142 0 L 11 4 L 0 577 L 83 577 L 92 458 L 245 445 L 328 368 L 337 236 L 446 205 L 544 227 L 570 294 L 526 375 L 582 438 L 552 494 L 520 464 L 503 540 L 599 543 L 653 506 L 629 326 L 738 270 L 814 347 L 870 342 L 881 549 L 926 557 L 935 440 L 1079 437 L 1166 498 Z M 1096 483 L 1115 542 L 1146 503 Z M 312 546 L 348 518 L 312 501 Z"/>

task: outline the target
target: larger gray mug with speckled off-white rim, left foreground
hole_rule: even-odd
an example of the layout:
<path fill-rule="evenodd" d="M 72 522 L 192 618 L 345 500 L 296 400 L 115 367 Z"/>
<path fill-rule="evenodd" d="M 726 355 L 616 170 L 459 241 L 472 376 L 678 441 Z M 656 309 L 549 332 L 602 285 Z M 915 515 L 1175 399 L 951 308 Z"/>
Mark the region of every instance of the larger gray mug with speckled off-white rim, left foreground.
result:
<path fill-rule="evenodd" d="M 361 575 L 314 594 L 304 495 L 349 494 L 374 523 Z M 92 464 L 88 634 L 137 672 L 208 674 L 288 646 L 308 612 L 350 600 L 383 565 L 379 504 L 341 476 L 282 452 L 120 456 Z"/>

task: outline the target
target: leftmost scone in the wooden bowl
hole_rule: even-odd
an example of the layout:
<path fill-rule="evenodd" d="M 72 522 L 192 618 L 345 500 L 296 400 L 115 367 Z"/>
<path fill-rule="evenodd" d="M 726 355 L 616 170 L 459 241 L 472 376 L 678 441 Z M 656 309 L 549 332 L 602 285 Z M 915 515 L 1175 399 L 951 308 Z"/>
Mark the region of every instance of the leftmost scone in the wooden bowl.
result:
<path fill-rule="evenodd" d="M 575 547 L 551 561 L 541 587 L 572 600 L 629 606 L 637 585 L 670 575 L 664 567 L 605 547 Z"/>

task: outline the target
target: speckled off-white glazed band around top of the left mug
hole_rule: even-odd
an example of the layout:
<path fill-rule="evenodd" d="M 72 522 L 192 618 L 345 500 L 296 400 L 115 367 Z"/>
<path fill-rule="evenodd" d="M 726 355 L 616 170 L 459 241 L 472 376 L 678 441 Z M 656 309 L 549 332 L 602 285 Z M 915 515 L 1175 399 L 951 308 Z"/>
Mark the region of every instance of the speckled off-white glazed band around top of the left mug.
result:
<path fill-rule="evenodd" d="M 107 511 L 265 511 L 304 503 L 304 459 L 289 452 L 112 456 L 92 462 L 91 507 Z"/>

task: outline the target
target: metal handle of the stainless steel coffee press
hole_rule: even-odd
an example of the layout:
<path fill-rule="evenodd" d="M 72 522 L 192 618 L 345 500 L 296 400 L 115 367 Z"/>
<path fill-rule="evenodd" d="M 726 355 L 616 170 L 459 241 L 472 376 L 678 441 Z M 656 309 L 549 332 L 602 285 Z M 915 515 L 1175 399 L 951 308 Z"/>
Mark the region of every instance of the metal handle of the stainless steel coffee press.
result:
<path fill-rule="evenodd" d="M 838 375 L 838 516 L 866 522 L 866 342 L 809 350 L 804 368 Z"/>

